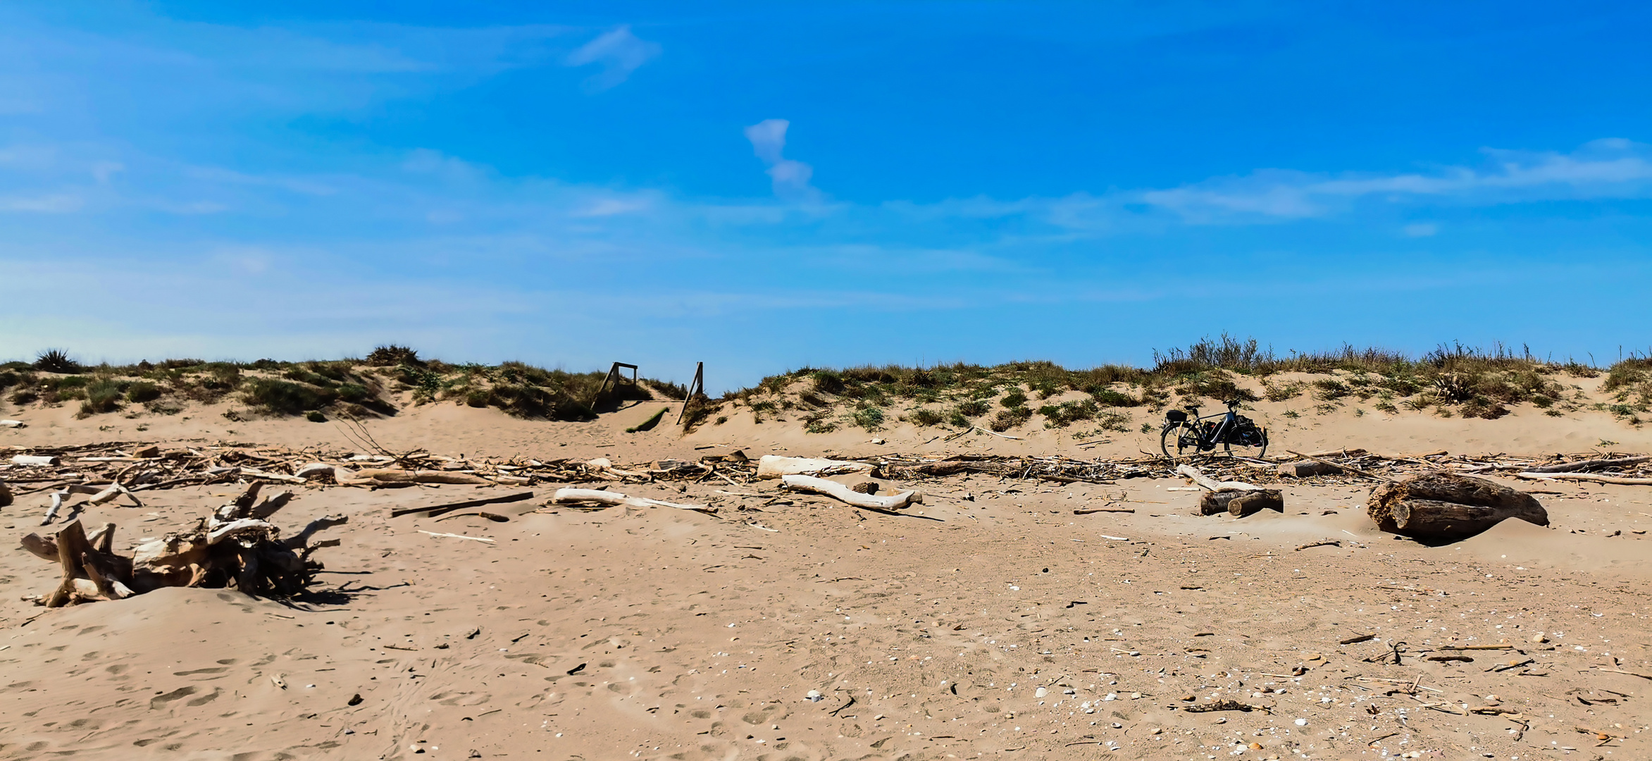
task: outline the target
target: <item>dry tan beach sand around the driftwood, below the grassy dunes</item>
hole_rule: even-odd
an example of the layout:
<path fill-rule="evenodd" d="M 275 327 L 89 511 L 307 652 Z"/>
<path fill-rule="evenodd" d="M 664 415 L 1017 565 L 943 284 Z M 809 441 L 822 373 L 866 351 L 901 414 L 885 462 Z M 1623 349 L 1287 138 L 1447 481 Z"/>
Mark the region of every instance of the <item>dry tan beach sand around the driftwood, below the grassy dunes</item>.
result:
<path fill-rule="evenodd" d="M 871 444 L 740 419 L 689 437 L 623 432 L 654 408 L 553 424 L 441 404 L 370 428 L 393 449 L 620 464 L 733 447 L 1156 447 L 1156 434 L 1075 451 L 1059 431 L 945 442 L 905 428 Z M 0 446 L 345 444 L 330 424 L 215 409 L 114 424 L 46 409 L 28 423 Z M 1652 449 L 1596 413 L 1297 423 L 1274 419 L 1275 446 Z M 319 553 L 329 571 L 309 603 L 162 589 L 46 611 L 18 598 L 50 589 L 56 566 L 0 555 L 0 758 L 1652 758 L 1652 543 L 1637 533 L 1652 527 L 1652 487 L 1510 484 L 1561 492 L 1540 497 L 1550 528 L 1505 522 L 1446 546 L 1376 532 L 1366 487 L 1302 482 L 1284 485 L 1284 515 L 1244 520 L 1193 515 L 1180 480 L 947 477 L 907 517 L 771 485 L 649 484 L 626 490 L 722 513 L 532 512 L 535 500 L 499 505 L 509 523 L 388 517 L 501 489 L 302 489 L 282 525 L 350 517 L 329 532 L 344 545 Z M 119 523 L 124 550 L 238 490 L 149 492 L 144 508 L 86 520 Z M 1108 502 L 1137 512 L 1074 515 Z M 0 510 L 12 546 L 43 503 Z M 1340 546 L 1297 550 L 1322 540 Z M 1374 639 L 1338 644 L 1358 636 Z M 1379 662 L 1396 642 L 1432 652 Z M 1495 644 L 1512 649 L 1442 649 Z M 1256 708 L 1186 710 L 1209 698 Z"/>

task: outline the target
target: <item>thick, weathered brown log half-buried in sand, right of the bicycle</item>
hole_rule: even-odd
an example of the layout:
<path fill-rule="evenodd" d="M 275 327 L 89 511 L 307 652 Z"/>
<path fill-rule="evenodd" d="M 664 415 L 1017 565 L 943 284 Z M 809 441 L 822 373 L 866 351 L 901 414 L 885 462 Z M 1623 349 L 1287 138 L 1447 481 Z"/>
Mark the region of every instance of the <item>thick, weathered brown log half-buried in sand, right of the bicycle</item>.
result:
<path fill-rule="evenodd" d="M 1376 527 L 1403 536 L 1457 541 L 1520 518 L 1548 525 L 1536 497 L 1485 479 L 1457 474 L 1422 474 L 1371 490 L 1366 515 Z"/>

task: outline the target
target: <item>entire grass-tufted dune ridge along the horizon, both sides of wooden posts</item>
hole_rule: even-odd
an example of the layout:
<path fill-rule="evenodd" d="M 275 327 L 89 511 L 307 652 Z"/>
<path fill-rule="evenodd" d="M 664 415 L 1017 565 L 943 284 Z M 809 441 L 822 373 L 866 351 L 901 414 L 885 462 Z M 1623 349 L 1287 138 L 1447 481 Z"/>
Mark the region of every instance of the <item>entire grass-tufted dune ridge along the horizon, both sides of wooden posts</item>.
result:
<path fill-rule="evenodd" d="M 1503 345 L 1441 345 L 1421 357 L 1351 345 L 1280 355 L 1254 338 L 1222 335 L 1155 352 L 1145 368 L 1069 370 L 1051 362 L 800 368 L 717 399 L 691 399 L 686 428 L 719 424 L 732 409 L 745 408 L 758 421 L 793 419 L 811 432 L 881 431 L 897 423 L 1008 431 L 1034 419 L 1044 428 L 1087 423 L 1118 429 L 1133 428 L 1130 408 L 1156 414 L 1171 404 L 1264 398 L 1298 399 L 1292 408 L 1307 411 L 1292 413 L 1298 416 L 1370 406 L 1388 414 L 1495 419 L 1521 404 L 1548 414 L 1581 409 L 1574 381 L 1602 373 L 1609 399 L 1593 403 L 1594 409 L 1631 424 L 1652 414 L 1652 358 L 1639 355 L 1609 368 L 1538 358 L 1525 347 L 1513 352 Z M 269 416 L 365 418 L 396 414 L 408 404 L 454 403 L 524 419 L 583 421 L 593 419 L 601 404 L 687 395 L 681 385 L 643 378 L 596 399 L 603 378 L 600 371 L 570 373 L 520 362 L 454 365 L 393 343 L 365 358 L 327 362 L 169 358 L 86 366 L 68 350 L 46 350 L 33 362 L 0 363 L 0 393 L 12 404 L 81 401 L 81 416 L 170 414 L 188 401 L 230 401 Z"/>

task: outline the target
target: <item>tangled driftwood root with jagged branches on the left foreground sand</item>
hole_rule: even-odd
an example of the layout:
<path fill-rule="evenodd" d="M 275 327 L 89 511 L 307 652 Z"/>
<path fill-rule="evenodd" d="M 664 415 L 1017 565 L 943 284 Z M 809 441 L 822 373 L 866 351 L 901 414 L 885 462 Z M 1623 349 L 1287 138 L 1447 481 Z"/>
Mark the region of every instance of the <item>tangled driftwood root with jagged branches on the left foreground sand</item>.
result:
<path fill-rule="evenodd" d="M 287 505 L 291 492 L 258 502 L 259 484 L 188 530 L 137 546 L 131 558 L 116 555 L 114 523 L 91 535 L 74 520 L 53 538 L 23 536 L 23 548 L 63 566 L 63 581 L 48 594 L 30 596 L 36 604 L 59 607 L 99 599 L 122 599 L 164 586 L 236 588 L 253 596 L 291 598 L 302 593 L 322 565 L 311 553 L 337 546 L 339 540 L 311 543 L 324 528 L 344 523 L 342 515 L 312 520 L 302 532 L 279 538 L 266 518 Z"/>

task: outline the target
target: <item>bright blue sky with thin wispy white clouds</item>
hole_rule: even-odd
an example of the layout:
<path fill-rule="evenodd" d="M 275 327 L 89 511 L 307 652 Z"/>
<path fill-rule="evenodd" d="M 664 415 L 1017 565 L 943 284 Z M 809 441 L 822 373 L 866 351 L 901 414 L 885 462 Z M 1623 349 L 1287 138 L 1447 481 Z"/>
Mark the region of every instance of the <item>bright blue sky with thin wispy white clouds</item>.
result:
<path fill-rule="evenodd" d="M 0 357 L 1611 362 L 1652 345 L 1649 38 L 1644 3 L 7 3 Z"/>

